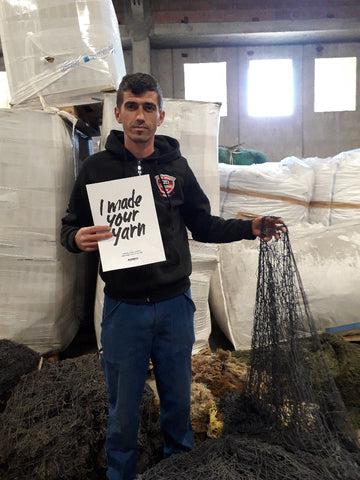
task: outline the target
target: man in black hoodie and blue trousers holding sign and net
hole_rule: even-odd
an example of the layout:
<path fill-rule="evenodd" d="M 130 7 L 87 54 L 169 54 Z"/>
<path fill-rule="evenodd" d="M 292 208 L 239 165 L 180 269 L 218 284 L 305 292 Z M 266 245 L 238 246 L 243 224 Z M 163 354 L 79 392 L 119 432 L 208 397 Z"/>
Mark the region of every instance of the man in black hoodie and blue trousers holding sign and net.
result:
<path fill-rule="evenodd" d="M 93 226 L 87 184 L 150 175 L 166 260 L 100 270 L 105 282 L 101 361 L 110 404 L 107 477 L 132 480 L 149 359 L 160 397 L 164 456 L 194 446 L 190 389 L 195 306 L 186 228 L 197 241 L 222 243 L 256 238 L 262 221 L 267 240 L 278 238 L 285 227 L 283 220 L 272 217 L 224 220 L 210 214 L 209 201 L 181 156 L 177 140 L 155 136 L 165 112 L 160 86 L 152 76 L 136 73 L 123 78 L 115 117 L 124 132 L 112 130 L 105 151 L 84 162 L 62 221 L 61 241 L 71 252 L 94 252 L 100 241 L 113 235 L 107 225 Z"/>

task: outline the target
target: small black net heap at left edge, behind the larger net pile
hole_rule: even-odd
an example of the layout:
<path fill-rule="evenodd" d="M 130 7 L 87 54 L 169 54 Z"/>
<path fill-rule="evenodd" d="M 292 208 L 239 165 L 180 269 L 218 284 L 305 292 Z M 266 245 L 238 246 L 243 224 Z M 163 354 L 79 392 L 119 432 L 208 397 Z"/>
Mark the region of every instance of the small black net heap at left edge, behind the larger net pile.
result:
<path fill-rule="evenodd" d="M 39 365 L 40 355 L 25 345 L 0 340 L 0 412 L 18 381 Z"/>

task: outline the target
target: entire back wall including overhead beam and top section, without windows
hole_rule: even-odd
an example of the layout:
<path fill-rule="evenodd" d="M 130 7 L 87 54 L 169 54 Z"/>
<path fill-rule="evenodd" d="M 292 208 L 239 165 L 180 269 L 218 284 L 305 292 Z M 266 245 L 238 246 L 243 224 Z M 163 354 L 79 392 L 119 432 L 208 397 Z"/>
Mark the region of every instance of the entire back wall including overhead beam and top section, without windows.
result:
<path fill-rule="evenodd" d="M 315 58 L 355 56 L 359 78 L 357 0 L 113 0 L 113 4 L 127 72 L 152 73 L 165 97 L 185 98 L 185 63 L 226 62 L 228 112 L 220 119 L 220 145 L 259 150 L 271 161 L 291 155 L 325 158 L 360 146 L 359 108 L 324 113 L 313 108 Z M 264 58 L 293 60 L 291 116 L 254 118 L 247 113 L 249 60 Z"/>

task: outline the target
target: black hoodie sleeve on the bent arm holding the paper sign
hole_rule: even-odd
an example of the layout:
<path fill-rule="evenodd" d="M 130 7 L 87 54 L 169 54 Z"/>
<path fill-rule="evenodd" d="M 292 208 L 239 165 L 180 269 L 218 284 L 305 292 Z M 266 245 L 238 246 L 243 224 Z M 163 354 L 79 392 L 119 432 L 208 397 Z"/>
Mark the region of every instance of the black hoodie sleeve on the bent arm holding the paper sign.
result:
<path fill-rule="evenodd" d="M 81 252 L 75 243 L 77 231 L 82 227 L 93 225 L 84 177 L 80 172 L 70 196 L 66 215 L 61 220 L 61 245 L 72 253 Z"/>

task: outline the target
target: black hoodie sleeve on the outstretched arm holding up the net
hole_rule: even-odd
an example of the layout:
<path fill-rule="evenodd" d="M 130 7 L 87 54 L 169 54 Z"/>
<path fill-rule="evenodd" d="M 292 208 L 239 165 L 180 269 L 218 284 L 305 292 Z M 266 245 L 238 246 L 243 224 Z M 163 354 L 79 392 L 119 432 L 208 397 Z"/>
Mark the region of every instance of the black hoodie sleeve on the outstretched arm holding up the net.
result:
<path fill-rule="evenodd" d="M 211 215 L 210 202 L 201 189 L 194 173 L 187 165 L 184 181 L 183 217 L 193 239 L 205 243 L 230 243 L 238 240 L 253 240 L 252 221 L 225 220 Z"/>

